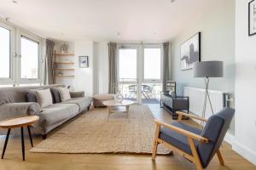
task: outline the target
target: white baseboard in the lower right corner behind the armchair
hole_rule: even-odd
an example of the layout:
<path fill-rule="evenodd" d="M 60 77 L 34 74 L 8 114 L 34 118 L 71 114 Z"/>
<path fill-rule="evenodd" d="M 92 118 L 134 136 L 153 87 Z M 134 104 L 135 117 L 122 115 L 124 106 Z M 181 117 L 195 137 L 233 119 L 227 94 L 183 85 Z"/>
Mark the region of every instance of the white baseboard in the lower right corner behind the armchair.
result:
<path fill-rule="evenodd" d="M 238 143 L 236 140 L 234 140 L 232 143 L 233 150 L 256 165 L 256 152 L 248 149 L 244 144 Z"/>

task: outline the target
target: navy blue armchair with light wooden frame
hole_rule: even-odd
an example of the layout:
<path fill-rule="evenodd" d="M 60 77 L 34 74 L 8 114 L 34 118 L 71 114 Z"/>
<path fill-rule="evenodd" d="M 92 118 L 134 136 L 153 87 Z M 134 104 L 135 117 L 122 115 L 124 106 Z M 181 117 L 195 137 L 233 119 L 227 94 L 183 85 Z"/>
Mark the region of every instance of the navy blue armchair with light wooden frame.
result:
<path fill-rule="evenodd" d="M 220 165 L 224 166 L 219 147 L 224 140 L 235 110 L 224 108 L 211 116 L 208 120 L 177 111 L 177 122 L 165 123 L 155 120 L 156 130 L 152 160 L 154 161 L 158 144 L 164 144 L 181 156 L 195 163 L 198 170 L 206 168 L 212 157 L 217 154 Z M 203 130 L 190 127 L 182 121 L 183 116 L 206 122 Z"/>

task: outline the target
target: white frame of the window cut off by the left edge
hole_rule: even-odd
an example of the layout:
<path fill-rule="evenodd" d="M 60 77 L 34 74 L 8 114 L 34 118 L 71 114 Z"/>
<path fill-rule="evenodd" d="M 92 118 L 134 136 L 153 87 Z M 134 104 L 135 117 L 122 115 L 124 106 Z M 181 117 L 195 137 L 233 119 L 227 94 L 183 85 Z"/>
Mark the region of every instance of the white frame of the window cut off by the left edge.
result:
<path fill-rule="evenodd" d="M 13 84 L 15 83 L 15 28 L 13 26 L 8 26 L 3 22 L 0 22 L 0 26 L 4 29 L 10 31 L 9 36 L 9 46 L 10 46 L 10 56 L 9 56 L 9 78 L 0 77 L 0 84 Z"/>

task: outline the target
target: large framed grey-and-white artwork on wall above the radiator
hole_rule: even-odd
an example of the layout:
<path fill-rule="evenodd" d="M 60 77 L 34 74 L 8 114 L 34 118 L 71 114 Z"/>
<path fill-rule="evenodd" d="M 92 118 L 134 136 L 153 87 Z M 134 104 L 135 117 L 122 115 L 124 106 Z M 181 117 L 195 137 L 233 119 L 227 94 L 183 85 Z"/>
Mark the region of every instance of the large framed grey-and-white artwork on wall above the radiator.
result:
<path fill-rule="evenodd" d="M 180 68 L 192 69 L 195 62 L 201 61 L 201 32 L 190 37 L 181 45 Z"/>

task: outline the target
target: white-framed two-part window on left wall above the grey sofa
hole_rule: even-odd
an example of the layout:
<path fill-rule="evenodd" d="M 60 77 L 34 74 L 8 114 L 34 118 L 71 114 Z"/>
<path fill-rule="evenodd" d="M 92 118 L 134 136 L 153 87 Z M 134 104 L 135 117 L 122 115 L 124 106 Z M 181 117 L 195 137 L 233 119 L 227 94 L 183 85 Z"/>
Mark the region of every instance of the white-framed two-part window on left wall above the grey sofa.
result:
<path fill-rule="evenodd" d="M 17 28 L 0 21 L 0 84 L 40 83 L 43 38 Z"/>

